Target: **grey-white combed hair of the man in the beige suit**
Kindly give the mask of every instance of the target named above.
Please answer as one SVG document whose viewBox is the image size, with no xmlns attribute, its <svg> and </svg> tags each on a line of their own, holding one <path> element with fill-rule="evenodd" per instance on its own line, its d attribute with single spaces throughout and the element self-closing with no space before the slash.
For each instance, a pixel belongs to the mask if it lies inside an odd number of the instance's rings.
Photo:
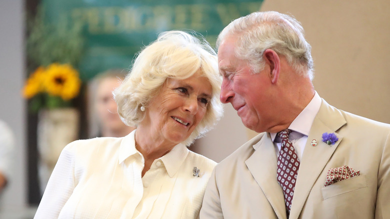
<svg viewBox="0 0 390 219">
<path fill-rule="evenodd" d="M 304 30 L 294 17 L 276 11 L 253 12 L 230 22 L 218 35 L 216 46 L 226 38 L 235 37 L 235 55 L 247 60 L 254 73 L 264 68 L 265 49 L 286 57 L 300 74 L 313 79 L 311 46 Z"/>
</svg>

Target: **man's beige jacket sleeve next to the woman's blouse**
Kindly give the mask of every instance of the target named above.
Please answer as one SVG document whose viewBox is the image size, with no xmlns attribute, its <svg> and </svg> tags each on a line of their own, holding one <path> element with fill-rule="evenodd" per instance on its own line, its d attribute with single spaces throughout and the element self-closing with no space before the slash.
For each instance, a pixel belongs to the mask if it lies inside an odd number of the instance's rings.
<svg viewBox="0 0 390 219">
<path fill-rule="evenodd" d="M 202 207 L 200 208 L 200 219 L 223 218 L 220 196 L 215 177 L 216 167 L 212 170 L 210 179 L 208 180 L 206 186 Z"/>
</svg>

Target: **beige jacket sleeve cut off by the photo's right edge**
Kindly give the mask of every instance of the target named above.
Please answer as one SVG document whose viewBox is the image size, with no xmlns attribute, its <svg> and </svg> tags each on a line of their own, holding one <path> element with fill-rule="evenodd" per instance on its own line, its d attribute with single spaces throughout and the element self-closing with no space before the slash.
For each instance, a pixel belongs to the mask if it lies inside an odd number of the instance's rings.
<svg viewBox="0 0 390 219">
<path fill-rule="evenodd" d="M 375 219 L 388 218 L 388 215 L 390 215 L 388 197 L 390 197 L 390 132 L 388 132 L 384 143 L 378 171 Z"/>
</svg>

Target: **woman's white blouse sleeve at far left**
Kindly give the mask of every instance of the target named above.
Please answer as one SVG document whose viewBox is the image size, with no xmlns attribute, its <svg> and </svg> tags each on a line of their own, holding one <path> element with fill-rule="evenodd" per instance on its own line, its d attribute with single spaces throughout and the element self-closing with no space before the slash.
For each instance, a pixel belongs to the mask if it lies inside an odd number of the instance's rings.
<svg viewBox="0 0 390 219">
<path fill-rule="evenodd" d="M 75 186 L 75 148 L 76 145 L 72 142 L 61 151 L 47 182 L 34 219 L 58 218 L 59 212 L 72 194 Z"/>
</svg>

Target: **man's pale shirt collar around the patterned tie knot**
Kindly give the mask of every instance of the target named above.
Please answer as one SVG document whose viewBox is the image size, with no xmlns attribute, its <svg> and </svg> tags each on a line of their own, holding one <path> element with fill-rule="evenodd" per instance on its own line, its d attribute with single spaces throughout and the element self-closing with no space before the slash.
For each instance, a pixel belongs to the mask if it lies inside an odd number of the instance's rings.
<svg viewBox="0 0 390 219">
<path fill-rule="evenodd" d="M 317 114 L 319 107 L 321 106 L 321 97 L 319 97 L 317 91 L 314 92 L 313 98 L 304 107 L 304 109 L 296 116 L 296 118 L 288 126 L 288 129 L 297 131 L 303 135 L 308 135 L 311 124 L 314 117 Z M 275 139 L 277 133 L 270 133 L 272 141 Z"/>
</svg>

